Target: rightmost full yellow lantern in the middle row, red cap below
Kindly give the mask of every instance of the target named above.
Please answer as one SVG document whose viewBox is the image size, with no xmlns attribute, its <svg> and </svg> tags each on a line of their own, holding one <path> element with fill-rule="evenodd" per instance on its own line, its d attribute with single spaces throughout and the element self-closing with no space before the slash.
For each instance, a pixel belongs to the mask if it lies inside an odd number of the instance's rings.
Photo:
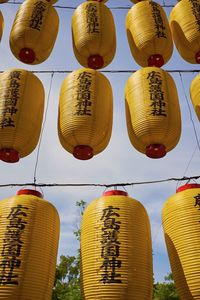
<svg viewBox="0 0 200 300">
<path fill-rule="evenodd" d="M 126 121 L 132 145 L 151 158 L 161 158 L 178 143 L 181 116 L 175 83 L 164 70 L 135 72 L 125 88 Z"/>
</svg>

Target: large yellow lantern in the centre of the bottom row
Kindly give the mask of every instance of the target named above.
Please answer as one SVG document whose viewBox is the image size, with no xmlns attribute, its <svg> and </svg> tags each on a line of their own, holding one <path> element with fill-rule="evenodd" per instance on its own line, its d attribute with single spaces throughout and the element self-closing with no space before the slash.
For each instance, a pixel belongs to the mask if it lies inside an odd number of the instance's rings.
<svg viewBox="0 0 200 300">
<path fill-rule="evenodd" d="M 81 292 L 86 300 L 150 300 L 152 246 L 147 212 L 119 190 L 86 208 L 81 224 Z"/>
</svg>

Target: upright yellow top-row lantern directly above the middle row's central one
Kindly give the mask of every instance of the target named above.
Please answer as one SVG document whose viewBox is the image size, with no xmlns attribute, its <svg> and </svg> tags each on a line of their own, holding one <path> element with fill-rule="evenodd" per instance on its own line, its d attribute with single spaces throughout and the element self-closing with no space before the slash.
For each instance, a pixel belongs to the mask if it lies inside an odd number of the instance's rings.
<svg viewBox="0 0 200 300">
<path fill-rule="evenodd" d="M 78 62 L 92 69 L 107 66 L 116 50 L 115 24 L 103 3 L 86 1 L 72 16 L 72 39 Z"/>
</svg>

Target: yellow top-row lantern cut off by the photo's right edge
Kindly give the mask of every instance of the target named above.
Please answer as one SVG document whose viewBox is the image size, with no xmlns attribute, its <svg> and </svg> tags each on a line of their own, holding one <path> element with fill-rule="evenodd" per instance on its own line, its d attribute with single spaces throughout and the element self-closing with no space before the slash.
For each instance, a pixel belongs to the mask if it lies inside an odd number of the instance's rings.
<svg viewBox="0 0 200 300">
<path fill-rule="evenodd" d="M 179 54 L 189 63 L 200 63 L 199 1 L 181 0 L 172 9 L 170 27 Z"/>
</svg>

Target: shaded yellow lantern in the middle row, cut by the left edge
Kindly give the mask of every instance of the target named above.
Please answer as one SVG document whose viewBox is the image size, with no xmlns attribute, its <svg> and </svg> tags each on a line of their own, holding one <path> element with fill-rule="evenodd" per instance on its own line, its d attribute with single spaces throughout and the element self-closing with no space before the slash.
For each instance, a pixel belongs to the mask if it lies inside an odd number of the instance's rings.
<svg viewBox="0 0 200 300">
<path fill-rule="evenodd" d="M 9 69 L 0 75 L 0 159 L 17 162 L 37 146 L 44 88 L 31 72 Z"/>
</svg>

